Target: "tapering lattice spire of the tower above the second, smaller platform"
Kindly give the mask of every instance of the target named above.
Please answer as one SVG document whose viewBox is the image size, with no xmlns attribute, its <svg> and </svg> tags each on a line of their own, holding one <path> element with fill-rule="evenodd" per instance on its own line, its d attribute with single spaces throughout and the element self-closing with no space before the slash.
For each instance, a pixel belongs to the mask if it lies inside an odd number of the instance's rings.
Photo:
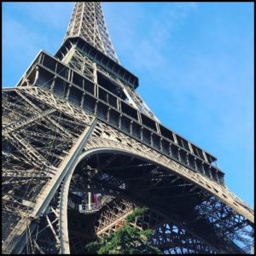
<svg viewBox="0 0 256 256">
<path fill-rule="evenodd" d="M 64 41 L 68 37 L 80 37 L 119 63 L 100 2 L 76 2 Z"/>
</svg>

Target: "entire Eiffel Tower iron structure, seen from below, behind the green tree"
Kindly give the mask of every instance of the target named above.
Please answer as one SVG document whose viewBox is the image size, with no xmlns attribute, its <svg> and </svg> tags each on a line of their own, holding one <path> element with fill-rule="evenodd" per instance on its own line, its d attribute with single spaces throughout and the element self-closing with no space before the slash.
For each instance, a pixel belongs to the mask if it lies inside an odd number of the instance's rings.
<svg viewBox="0 0 256 256">
<path fill-rule="evenodd" d="M 78 2 L 55 55 L 2 90 L 2 251 L 86 253 L 132 225 L 163 253 L 250 253 L 253 210 L 206 150 L 169 130 L 122 67 L 99 2 Z"/>
</svg>

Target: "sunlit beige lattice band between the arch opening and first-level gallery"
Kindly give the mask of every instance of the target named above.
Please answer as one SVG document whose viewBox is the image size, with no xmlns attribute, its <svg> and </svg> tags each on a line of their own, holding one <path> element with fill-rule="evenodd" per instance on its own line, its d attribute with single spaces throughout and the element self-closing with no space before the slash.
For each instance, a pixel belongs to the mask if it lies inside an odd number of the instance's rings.
<svg viewBox="0 0 256 256">
<path fill-rule="evenodd" d="M 169 168 L 173 172 L 176 172 L 180 177 L 189 180 L 189 182 L 192 181 L 193 183 L 196 183 L 196 185 L 210 192 L 229 207 L 240 212 L 241 215 L 253 222 L 253 210 L 247 207 L 247 205 L 245 205 L 236 195 L 231 193 L 227 187 L 221 186 L 211 179 L 202 176 L 200 173 L 195 173 L 189 170 L 189 168 L 177 164 L 176 161 L 170 160 L 166 155 L 160 154 L 142 143 L 138 143 L 137 140 L 132 137 L 128 137 L 123 132 L 100 121 L 97 123 L 92 137 L 86 144 L 87 150 L 96 148 L 113 148 L 121 150 L 127 152 L 127 154 L 134 154 L 143 159 L 147 159 L 149 162 L 154 161 L 155 163 L 158 163 L 159 166 Z M 168 180 L 166 180 L 166 183 L 168 183 Z"/>
</svg>

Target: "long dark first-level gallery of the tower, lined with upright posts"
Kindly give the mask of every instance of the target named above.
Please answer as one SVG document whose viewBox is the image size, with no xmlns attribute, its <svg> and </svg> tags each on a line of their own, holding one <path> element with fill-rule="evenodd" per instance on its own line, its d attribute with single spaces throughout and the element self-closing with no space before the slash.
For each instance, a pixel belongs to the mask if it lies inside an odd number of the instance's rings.
<svg viewBox="0 0 256 256">
<path fill-rule="evenodd" d="M 213 157 L 210 154 L 174 132 L 168 131 L 163 125 L 149 119 L 100 85 L 79 77 L 79 74 L 69 67 L 64 67 L 61 62 L 49 55 L 44 53 L 38 55 L 35 63 L 40 64 L 38 67 L 34 67 L 38 73 L 36 75 L 38 79 L 34 83 L 47 87 L 53 93 L 65 97 L 70 104 L 79 105 L 84 110 L 96 115 L 97 118 L 107 121 L 109 125 L 113 125 L 126 135 L 137 139 L 138 143 L 154 148 L 160 154 L 165 154 L 183 166 L 212 178 L 217 183 L 224 183 L 224 173 L 212 166 Z M 49 65 L 49 63 L 51 64 Z M 61 73 L 63 69 L 65 72 Z M 58 72 L 58 70 L 60 71 Z M 33 73 L 32 70 L 29 73 Z M 66 78 L 64 79 L 63 76 Z M 78 79 L 81 79 L 79 82 L 81 84 L 76 82 Z M 104 97 L 100 96 L 99 90 L 104 91 Z M 110 101 L 110 99 L 112 100 Z M 150 128 L 148 125 L 153 126 Z M 165 136 L 161 133 L 164 133 Z"/>
</svg>

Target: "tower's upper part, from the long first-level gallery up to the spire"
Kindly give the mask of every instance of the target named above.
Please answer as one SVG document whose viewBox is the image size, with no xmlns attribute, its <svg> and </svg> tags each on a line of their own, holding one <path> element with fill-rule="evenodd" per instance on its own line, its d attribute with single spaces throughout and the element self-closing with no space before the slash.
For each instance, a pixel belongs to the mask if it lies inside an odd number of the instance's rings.
<svg viewBox="0 0 256 256">
<path fill-rule="evenodd" d="M 56 54 L 38 54 L 17 86 L 40 86 L 179 164 L 224 184 L 216 158 L 169 130 L 137 93 L 137 76 L 114 53 L 100 3 L 76 3 Z"/>
</svg>

